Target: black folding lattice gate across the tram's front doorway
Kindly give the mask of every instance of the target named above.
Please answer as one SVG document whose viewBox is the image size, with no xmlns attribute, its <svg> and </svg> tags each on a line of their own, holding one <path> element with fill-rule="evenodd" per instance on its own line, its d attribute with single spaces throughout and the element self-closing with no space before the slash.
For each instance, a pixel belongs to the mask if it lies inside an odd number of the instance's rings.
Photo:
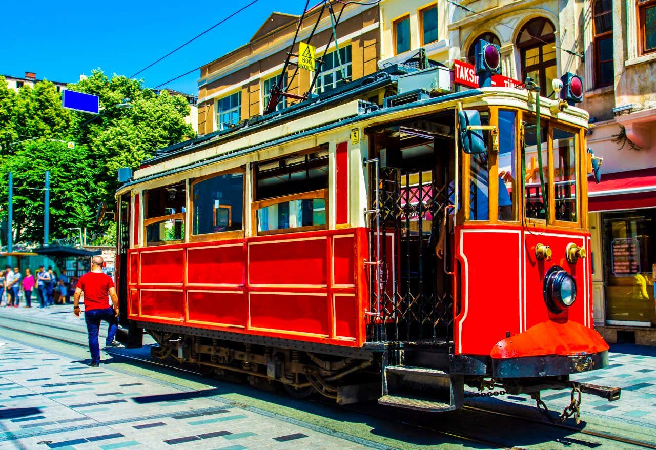
<svg viewBox="0 0 656 450">
<path fill-rule="evenodd" d="M 367 340 L 448 345 L 451 278 L 435 249 L 453 186 L 435 166 L 380 169 L 371 162 Z"/>
</svg>

